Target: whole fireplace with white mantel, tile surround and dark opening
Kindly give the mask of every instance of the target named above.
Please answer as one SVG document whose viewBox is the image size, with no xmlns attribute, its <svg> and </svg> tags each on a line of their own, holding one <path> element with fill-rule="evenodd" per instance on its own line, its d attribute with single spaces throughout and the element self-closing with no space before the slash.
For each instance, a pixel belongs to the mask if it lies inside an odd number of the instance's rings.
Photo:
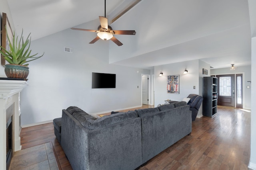
<svg viewBox="0 0 256 170">
<path fill-rule="evenodd" d="M 20 92 L 25 80 L 0 79 L 0 170 L 7 170 L 20 145 Z"/>
</svg>

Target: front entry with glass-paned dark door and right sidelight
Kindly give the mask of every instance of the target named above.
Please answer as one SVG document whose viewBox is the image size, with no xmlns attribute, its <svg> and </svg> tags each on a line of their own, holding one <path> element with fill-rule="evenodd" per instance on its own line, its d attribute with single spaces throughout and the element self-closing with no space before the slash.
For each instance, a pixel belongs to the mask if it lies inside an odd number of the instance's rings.
<svg viewBox="0 0 256 170">
<path fill-rule="evenodd" d="M 242 74 L 216 75 L 218 105 L 242 108 Z"/>
</svg>

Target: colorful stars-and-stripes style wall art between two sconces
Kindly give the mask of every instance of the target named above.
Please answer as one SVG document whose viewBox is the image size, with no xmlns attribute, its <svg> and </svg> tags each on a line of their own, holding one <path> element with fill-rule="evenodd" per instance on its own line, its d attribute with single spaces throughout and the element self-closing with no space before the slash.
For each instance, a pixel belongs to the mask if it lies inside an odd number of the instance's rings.
<svg viewBox="0 0 256 170">
<path fill-rule="evenodd" d="M 179 75 L 167 76 L 167 93 L 179 94 Z"/>
</svg>

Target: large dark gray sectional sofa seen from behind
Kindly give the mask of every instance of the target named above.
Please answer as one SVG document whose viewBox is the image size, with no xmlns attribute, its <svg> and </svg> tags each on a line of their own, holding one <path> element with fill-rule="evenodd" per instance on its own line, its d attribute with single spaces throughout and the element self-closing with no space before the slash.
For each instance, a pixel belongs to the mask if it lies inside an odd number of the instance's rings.
<svg viewBox="0 0 256 170">
<path fill-rule="evenodd" d="M 70 106 L 60 126 L 54 132 L 74 170 L 134 170 L 189 135 L 192 120 L 186 102 L 98 119 Z"/>
</svg>

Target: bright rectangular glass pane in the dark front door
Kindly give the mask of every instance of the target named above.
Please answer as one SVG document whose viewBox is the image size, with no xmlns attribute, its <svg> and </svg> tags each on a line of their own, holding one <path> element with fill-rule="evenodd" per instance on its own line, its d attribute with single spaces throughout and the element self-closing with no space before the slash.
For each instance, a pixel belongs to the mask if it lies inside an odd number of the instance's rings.
<svg viewBox="0 0 256 170">
<path fill-rule="evenodd" d="M 220 77 L 220 96 L 231 96 L 231 77 Z"/>
</svg>

